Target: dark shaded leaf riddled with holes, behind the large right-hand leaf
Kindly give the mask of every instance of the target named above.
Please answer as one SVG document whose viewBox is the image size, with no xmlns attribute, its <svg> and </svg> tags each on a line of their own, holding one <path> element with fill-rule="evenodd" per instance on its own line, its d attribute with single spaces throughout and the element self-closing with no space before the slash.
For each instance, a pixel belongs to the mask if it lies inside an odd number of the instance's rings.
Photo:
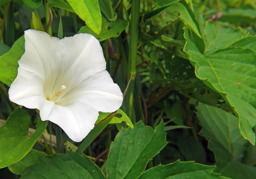
<svg viewBox="0 0 256 179">
<path fill-rule="evenodd" d="M 160 50 L 159 54 L 161 53 L 158 64 L 151 65 L 149 75 L 151 82 L 169 86 L 191 99 L 232 111 L 219 93 L 207 87 L 196 77 L 195 69 L 188 59 L 167 50 Z"/>
</svg>

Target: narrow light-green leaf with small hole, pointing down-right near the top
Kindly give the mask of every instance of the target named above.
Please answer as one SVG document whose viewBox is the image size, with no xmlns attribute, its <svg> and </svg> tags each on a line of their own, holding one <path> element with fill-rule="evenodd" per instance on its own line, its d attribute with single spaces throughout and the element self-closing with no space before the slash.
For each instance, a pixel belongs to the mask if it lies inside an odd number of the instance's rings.
<svg viewBox="0 0 256 179">
<path fill-rule="evenodd" d="M 182 3 L 175 3 L 168 7 L 166 11 L 176 15 L 183 23 L 187 25 L 187 27 L 193 30 L 200 38 L 202 37 L 199 24 L 189 6 L 184 6 Z"/>
</svg>

